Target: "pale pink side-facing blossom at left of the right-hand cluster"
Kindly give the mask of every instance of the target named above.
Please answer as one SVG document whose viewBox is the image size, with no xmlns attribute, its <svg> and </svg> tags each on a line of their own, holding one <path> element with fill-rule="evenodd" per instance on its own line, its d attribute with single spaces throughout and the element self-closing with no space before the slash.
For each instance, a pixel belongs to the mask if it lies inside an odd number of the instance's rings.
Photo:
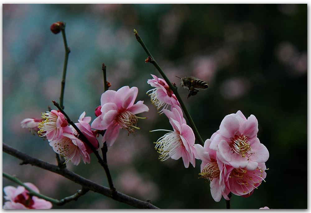
<svg viewBox="0 0 311 213">
<path fill-rule="evenodd" d="M 230 200 L 228 197 L 230 193 L 228 178 L 234 168 L 221 162 L 216 151 L 209 148 L 210 144 L 210 139 L 205 141 L 204 147 L 200 144 L 194 144 L 197 153 L 196 158 L 202 161 L 199 175 L 210 181 L 211 195 L 216 202 L 220 201 L 221 196 Z"/>
</svg>

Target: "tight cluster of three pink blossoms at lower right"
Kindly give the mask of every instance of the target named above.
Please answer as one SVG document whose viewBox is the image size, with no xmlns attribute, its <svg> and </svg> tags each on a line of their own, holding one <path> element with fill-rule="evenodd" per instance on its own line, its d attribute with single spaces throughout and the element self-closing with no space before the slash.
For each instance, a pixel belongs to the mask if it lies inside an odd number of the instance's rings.
<svg viewBox="0 0 311 213">
<path fill-rule="evenodd" d="M 258 121 L 238 111 L 225 116 L 219 130 L 204 143 L 195 144 L 196 158 L 202 160 L 201 177 L 210 181 L 216 202 L 228 194 L 248 197 L 266 178 L 267 148 L 257 138 Z"/>
</svg>

